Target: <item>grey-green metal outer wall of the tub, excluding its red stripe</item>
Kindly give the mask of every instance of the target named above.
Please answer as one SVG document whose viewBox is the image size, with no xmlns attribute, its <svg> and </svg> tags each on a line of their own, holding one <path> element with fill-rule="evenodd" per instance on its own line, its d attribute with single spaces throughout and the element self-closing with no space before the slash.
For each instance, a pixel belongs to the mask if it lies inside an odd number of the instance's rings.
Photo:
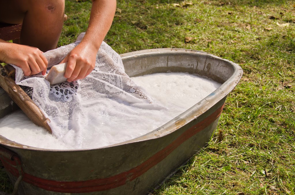
<svg viewBox="0 0 295 195">
<path fill-rule="evenodd" d="M 89 151 L 44 152 L 22 150 L 19 148 L 10 149 L 22 157 L 22 166 L 25 173 L 53 181 L 88 181 L 97 178 L 108 178 L 122 172 L 127 172 L 145 163 L 152 158 L 155 153 L 165 150 L 169 145 L 172 144 L 172 147 L 175 145 L 176 149 L 163 160 L 157 163 L 157 159 L 154 159 L 150 162 L 155 163 L 154 166 L 137 178 L 126 181 L 124 185 L 106 191 L 85 193 L 146 194 L 148 191 L 152 191 L 165 177 L 184 162 L 188 161 L 191 156 L 199 152 L 200 149 L 207 144 L 212 133 L 217 128 L 219 117 L 208 124 L 205 129 L 202 129 L 200 132 L 183 141 L 183 143 L 178 142 L 173 144 L 173 142 L 189 128 L 200 123 L 218 108 L 222 107 L 223 103 L 224 101 L 221 101 L 196 120 L 157 139 L 149 139 L 146 141 Z M 163 155 L 165 155 L 165 153 Z M 158 156 L 158 158 L 161 157 L 162 156 Z M 141 170 L 138 171 L 140 172 Z M 10 175 L 10 177 L 13 178 L 13 181 L 17 179 L 17 177 L 12 175 Z M 132 178 L 132 173 L 129 177 L 127 176 L 127 179 L 128 178 Z M 116 181 L 111 181 L 110 184 L 116 184 Z M 21 188 L 25 190 L 20 189 L 19 194 L 63 194 L 46 191 L 26 182 L 21 183 Z M 24 193 L 24 191 L 26 193 Z"/>
</svg>

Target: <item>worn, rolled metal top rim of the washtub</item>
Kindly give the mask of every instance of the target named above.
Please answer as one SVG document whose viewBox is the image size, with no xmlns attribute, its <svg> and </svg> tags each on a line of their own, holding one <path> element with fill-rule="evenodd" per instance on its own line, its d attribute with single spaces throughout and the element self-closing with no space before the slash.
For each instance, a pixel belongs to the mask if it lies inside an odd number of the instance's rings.
<svg viewBox="0 0 295 195">
<path fill-rule="evenodd" d="M 181 48 L 161 48 L 161 49 L 145 49 L 145 50 L 139 50 L 135 52 L 128 52 L 124 54 L 120 54 L 122 60 L 128 59 L 128 58 L 137 58 L 137 57 L 148 57 L 151 55 L 159 55 L 159 54 L 200 54 L 205 55 L 208 57 L 213 57 L 218 60 L 225 61 L 229 63 L 233 68 L 232 75 L 220 86 L 218 87 L 214 92 L 210 93 L 207 97 L 193 105 L 191 108 L 187 109 L 180 115 L 176 116 L 175 118 L 171 119 L 167 123 L 163 124 L 162 126 L 150 131 L 149 133 L 146 133 L 144 135 L 141 135 L 137 138 L 133 138 L 131 140 L 127 140 L 124 142 L 112 144 L 109 146 L 103 146 L 99 148 L 89 148 L 89 149 L 73 149 L 73 150 L 63 150 L 63 149 L 45 149 L 45 148 L 37 148 L 33 146 L 27 146 L 23 145 L 14 141 L 11 141 L 4 136 L 0 135 L 0 145 L 9 146 L 12 148 L 18 148 L 18 149 L 25 149 L 25 150 L 31 150 L 31 151 L 48 151 L 48 152 L 75 152 L 75 151 L 90 151 L 90 150 L 97 150 L 101 148 L 111 148 L 115 146 L 121 146 L 128 143 L 135 143 L 140 141 L 146 141 L 150 139 L 156 139 L 159 137 L 163 137 L 165 135 L 168 135 L 177 129 L 181 128 L 182 126 L 186 125 L 187 123 L 191 122 L 192 120 L 198 118 L 200 115 L 205 113 L 209 108 L 214 106 L 216 103 L 218 103 L 220 100 L 222 100 L 224 97 L 226 97 L 238 84 L 242 77 L 243 70 L 242 68 L 230 61 L 226 60 L 220 57 L 217 57 L 213 54 L 209 54 L 207 52 L 193 50 L 193 49 L 181 49 Z M 197 114 L 194 114 L 197 112 Z M 176 123 L 179 121 L 185 120 L 185 123 L 181 123 L 180 125 L 177 125 Z M 165 130 L 165 131 L 163 131 Z"/>
</svg>

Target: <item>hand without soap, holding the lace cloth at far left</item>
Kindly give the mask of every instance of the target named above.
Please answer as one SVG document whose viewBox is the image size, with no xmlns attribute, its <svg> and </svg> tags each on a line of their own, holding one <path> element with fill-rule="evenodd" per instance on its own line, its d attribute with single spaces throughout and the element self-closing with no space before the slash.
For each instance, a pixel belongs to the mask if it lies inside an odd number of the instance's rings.
<svg viewBox="0 0 295 195">
<path fill-rule="evenodd" d="M 0 61 L 20 67 L 25 76 L 39 72 L 42 72 L 42 75 L 46 74 L 48 62 L 42 53 L 36 47 L 0 42 Z"/>
</svg>

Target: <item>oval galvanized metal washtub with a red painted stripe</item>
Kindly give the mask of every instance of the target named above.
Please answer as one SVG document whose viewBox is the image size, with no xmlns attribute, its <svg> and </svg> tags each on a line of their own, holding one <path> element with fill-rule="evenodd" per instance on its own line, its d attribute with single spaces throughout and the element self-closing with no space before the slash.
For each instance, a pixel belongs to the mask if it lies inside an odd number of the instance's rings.
<svg viewBox="0 0 295 195">
<path fill-rule="evenodd" d="M 151 49 L 121 57 L 131 77 L 189 72 L 222 85 L 163 126 L 112 146 L 48 150 L 0 136 L 0 158 L 18 194 L 147 194 L 206 146 L 217 128 L 228 93 L 242 76 L 237 64 L 196 50 Z M 1 105 L 3 116 L 12 110 L 11 100 L 5 94 L 0 98 L 7 104 L 6 108 Z"/>
</svg>

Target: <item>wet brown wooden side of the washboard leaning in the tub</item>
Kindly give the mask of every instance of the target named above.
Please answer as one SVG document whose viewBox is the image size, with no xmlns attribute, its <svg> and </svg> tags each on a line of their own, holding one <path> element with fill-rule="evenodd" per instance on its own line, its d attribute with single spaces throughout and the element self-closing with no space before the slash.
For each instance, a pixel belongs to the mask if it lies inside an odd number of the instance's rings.
<svg viewBox="0 0 295 195">
<path fill-rule="evenodd" d="M 42 113 L 40 108 L 33 102 L 33 100 L 22 90 L 19 85 L 15 84 L 15 81 L 6 75 L 1 68 L 0 85 L 6 91 L 6 93 L 12 98 L 12 100 L 22 109 L 22 111 L 32 120 L 36 125 L 43 127 L 49 133 L 52 130 L 47 122 L 50 122 L 48 118 Z"/>
</svg>

